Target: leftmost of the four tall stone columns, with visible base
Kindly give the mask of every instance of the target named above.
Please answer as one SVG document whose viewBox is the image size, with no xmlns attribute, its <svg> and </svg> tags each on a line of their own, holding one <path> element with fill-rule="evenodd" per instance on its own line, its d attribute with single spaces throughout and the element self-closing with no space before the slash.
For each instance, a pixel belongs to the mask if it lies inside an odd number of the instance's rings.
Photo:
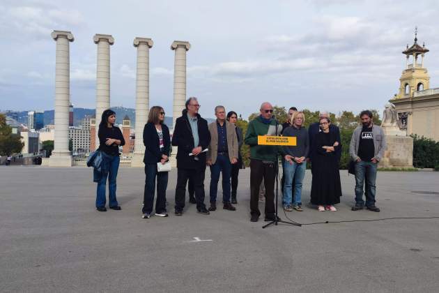
<svg viewBox="0 0 439 293">
<path fill-rule="evenodd" d="M 53 31 L 52 38 L 56 40 L 55 133 L 54 150 L 47 165 L 50 167 L 71 167 L 72 155 L 68 149 L 70 106 L 69 42 L 72 42 L 74 38 L 70 31 Z"/>
</svg>

